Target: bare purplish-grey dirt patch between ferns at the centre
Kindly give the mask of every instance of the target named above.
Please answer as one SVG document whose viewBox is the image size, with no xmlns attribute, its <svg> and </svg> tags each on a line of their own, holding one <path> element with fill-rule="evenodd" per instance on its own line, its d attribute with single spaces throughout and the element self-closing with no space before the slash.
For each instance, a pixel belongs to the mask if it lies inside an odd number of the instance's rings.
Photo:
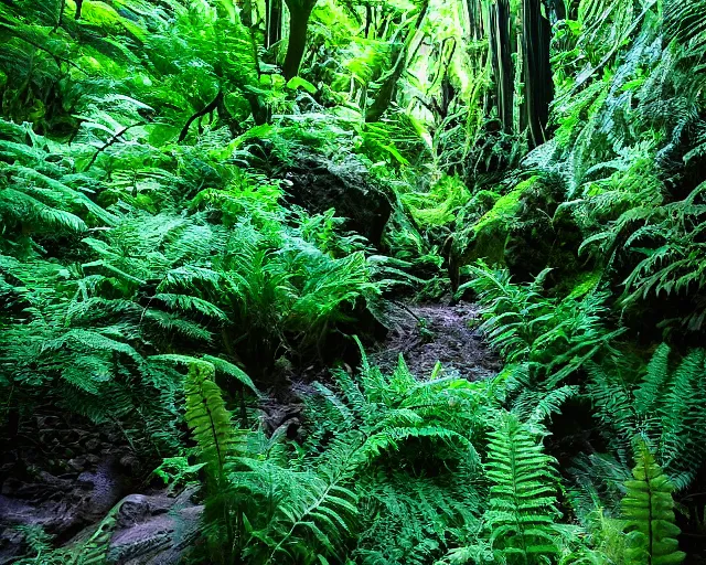
<svg viewBox="0 0 706 565">
<path fill-rule="evenodd" d="M 461 302 L 398 305 L 386 317 L 393 322 L 387 340 L 371 355 L 383 367 L 397 364 L 402 353 L 409 370 L 419 379 L 431 374 L 439 361 L 446 375 L 471 381 L 500 371 L 500 360 L 490 351 L 475 329 L 479 307 Z"/>
</svg>

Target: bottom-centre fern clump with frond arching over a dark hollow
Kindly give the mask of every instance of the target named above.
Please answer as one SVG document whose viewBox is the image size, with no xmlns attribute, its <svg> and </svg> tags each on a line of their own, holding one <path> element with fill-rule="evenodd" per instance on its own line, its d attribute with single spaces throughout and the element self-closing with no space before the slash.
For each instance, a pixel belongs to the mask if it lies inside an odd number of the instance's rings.
<svg viewBox="0 0 706 565">
<path fill-rule="evenodd" d="M 360 380 L 334 373 L 307 401 L 311 449 L 357 438 L 364 525 L 353 552 L 365 564 L 428 563 L 467 529 L 480 505 L 475 483 L 486 387 L 459 379 L 415 379 L 404 361 L 384 375 L 364 360 Z M 404 465 L 395 461 L 405 461 Z"/>
</svg>

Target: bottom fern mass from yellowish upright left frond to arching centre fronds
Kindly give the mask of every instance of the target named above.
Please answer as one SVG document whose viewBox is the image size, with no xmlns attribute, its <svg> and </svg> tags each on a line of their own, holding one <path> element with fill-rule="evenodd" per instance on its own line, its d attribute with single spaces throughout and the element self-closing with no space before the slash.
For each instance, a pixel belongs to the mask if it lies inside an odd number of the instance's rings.
<svg viewBox="0 0 706 565">
<path fill-rule="evenodd" d="M 481 433 L 486 386 L 417 381 L 403 362 L 389 376 L 367 364 L 360 381 L 334 376 L 340 392 L 317 384 L 304 398 L 309 433 L 295 448 L 281 434 L 235 429 L 213 367 L 191 364 L 186 422 L 207 471 L 212 558 L 313 563 L 356 535 L 362 563 L 426 563 L 478 523 L 470 439 Z M 409 470 L 391 465 L 391 454 Z"/>
</svg>

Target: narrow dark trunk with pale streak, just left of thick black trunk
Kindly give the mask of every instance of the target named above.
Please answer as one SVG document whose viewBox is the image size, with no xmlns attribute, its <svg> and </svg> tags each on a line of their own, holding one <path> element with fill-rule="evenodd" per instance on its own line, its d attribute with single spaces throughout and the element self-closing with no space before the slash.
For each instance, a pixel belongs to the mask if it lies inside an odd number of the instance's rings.
<svg viewBox="0 0 706 565">
<path fill-rule="evenodd" d="M 495 75 L 498 114 L 507 134 L 513 127 L 514 71 L 510 29 L 510 2 L 498 0 L 490 9 L 490 46 Z"/>
</svg>

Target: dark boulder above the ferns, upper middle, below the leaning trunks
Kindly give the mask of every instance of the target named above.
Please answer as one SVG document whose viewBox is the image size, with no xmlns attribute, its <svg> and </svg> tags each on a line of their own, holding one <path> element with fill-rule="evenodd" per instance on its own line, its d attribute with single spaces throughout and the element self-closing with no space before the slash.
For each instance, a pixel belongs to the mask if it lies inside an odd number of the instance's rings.
<svg viewBox="0 0 706 565">
<path fill-rule="evenodd" d="M 287 167 L 291 183 L 288 200 L 312 213 L 335 209 L 347 218 L 345 230 L 365 236 L 379 246 L 392 205 L 371 180 L 367 168 L 354 156 L 343 163 L 307 154 Z"/>
</svg>

